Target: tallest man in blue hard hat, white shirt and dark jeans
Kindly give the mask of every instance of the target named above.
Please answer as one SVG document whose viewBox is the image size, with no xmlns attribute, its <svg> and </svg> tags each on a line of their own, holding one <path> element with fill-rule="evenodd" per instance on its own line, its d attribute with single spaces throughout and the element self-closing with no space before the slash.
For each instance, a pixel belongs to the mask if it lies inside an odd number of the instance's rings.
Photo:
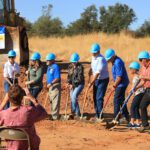
<svg viewBox="0 0 150 150">
<path fill-rule="evenodd" d="M 100 54 L 100 46 L 94 43 L 91 46 L 90 52 L 92 53 L 91 69 L 89 76 L 92 80 L 89 83 L 89 89 L 93 86 L 93 99 L 96 116 L 94 121 L 101 121 L 103 117 L 100 113 L 103 109 L 104 96 L 109 83 L 108 64 L 104 56 Z"/>
</svg>

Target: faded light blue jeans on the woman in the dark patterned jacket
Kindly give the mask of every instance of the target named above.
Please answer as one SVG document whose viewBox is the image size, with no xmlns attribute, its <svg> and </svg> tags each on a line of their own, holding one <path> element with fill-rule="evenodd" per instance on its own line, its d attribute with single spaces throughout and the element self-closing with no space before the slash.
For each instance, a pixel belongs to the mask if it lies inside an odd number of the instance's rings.
<svg viewBox="0 0 150 150">
<path fill-rule="evenodd" d="M 84 85 L 80 84 L 77 87 L 73 88 L 70 91 L 70 97 L 71 97 L 71 112 L 76 115 L 80 115 L 80 108 L 78 104 L 78 96 L 83 90 Z"/>
</svg>

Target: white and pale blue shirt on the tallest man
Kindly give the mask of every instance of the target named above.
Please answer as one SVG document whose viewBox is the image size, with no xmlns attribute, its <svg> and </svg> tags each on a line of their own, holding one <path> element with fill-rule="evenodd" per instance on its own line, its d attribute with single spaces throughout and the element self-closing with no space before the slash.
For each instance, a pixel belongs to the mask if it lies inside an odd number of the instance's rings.
<svg viewBox="0 0 150 150">
<path fill-rule="evenodd" d="M 93 75 L 100 73 L 97 79 L 102 80 L 109 77 L 107 61 L 101 54 L 98 57 L 92 57 L 91 68 Z"/>
</svg>

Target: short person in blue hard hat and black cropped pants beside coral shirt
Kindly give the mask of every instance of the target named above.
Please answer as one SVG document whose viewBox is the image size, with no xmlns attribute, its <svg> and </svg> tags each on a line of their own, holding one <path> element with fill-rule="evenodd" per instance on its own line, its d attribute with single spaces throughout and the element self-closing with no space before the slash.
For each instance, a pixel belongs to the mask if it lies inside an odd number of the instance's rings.
<svg viewBox="0 0 150 150">
<path fill-rule="evenodd" d="M 139 81 L 139 70 L 140 70 L 140 64 L 138 62 L 132 62 L 129 65 L 130 73 L 133 75 L 132 80 L 132 88 L 135 86 L 135 84 Z M 139 128 L 141 125 L 141 117 L 140 117 L 140 103 L 143 98 L 145 89 L 144 86 L 138 88 L 136 92 L 134 93 L 134 98 L 130 106 L 130 115 L 131 120 L 130 123 L 127 125 L 128 128 Z"/>
</svg>

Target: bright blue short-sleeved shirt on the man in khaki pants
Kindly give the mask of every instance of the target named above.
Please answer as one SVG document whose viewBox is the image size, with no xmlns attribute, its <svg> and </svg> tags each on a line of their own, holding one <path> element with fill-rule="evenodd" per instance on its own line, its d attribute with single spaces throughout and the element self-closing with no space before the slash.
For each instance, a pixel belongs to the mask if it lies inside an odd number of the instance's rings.
<svg viewBox="0 0 150 150">
<path fill-rule="evenodd" d="M 46 83 L 50 84 L 55 79 L 60 79 L 60 69 L 57 64 L 52 64 L 47 68 Z"/>
</svg>

